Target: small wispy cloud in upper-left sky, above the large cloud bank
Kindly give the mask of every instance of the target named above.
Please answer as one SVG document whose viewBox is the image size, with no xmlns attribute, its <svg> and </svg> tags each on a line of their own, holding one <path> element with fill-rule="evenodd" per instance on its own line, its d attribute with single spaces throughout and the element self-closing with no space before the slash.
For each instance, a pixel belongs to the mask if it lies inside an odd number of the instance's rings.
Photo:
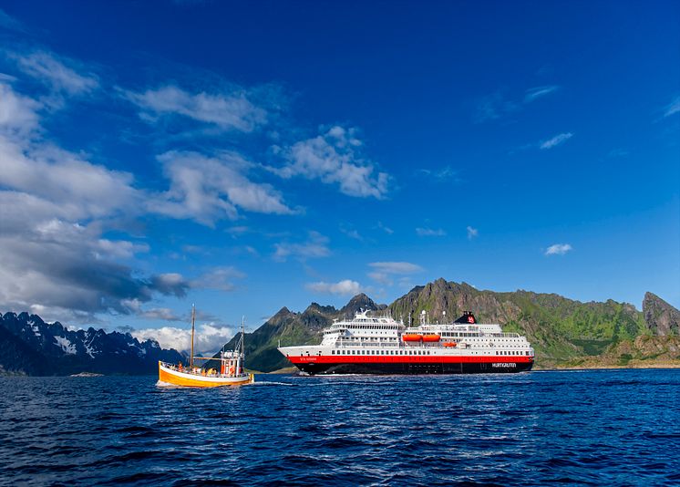
<svg viewBox="0 0 680 487">
<path fill-rule="evenodd" d="M 46 51 L 35 51 L 27 55 L 10 54 L 16 65 L 28 76 L 39 79 L 54 91 L 78 95 L 98 88 L 98 78 L 88 73 L 78 74 L 72 68 L 77 63 L 65 57 L 57 57 Z M 70 65 L 71 67 L 68 67 Z M 77 67 L 82 70 L 82 67 Z"/>
</svg>

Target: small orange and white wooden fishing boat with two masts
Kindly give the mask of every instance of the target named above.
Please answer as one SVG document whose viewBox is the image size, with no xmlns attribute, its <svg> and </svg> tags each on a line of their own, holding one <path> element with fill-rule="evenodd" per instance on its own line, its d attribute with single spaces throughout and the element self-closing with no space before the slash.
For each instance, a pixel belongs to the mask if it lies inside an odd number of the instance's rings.
<svg viewBox="0 0 680 487">
<path fill-rule="evenodd" d="M 191 356 L 189 367 L 180 364 L 169 364 L 159 360 L 159 382 L 163 385 L 185 386 L 193 388 L 217 388 L 221 386 L 241 386 L 255 381 L 253 374 L 243 370 L 245 353 L 243 338 L 245 337 L 244 320 L 241 322 L 241 338 L 231 351 L 223 350 L 220 357 L 194 357 L 193 338 L 196 329 L 196 307 L 191 306 Z M 194 360 L 219 360 L 217 368 L 195 367 Z"/>
</svg>

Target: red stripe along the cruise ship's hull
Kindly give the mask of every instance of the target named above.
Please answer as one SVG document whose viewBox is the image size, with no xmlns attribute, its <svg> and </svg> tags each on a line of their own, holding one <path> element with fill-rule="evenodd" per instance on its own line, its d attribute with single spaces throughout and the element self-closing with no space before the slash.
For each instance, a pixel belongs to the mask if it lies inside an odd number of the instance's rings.
<svg viewBox="0 0 680 487">
<path fill-rule="evenodd" d="M 321 356 L 321 355 L 311 355 L 309 357 L 287 357 L 288 360 L 294 364 L 385 364 L 385 363 L 397 363 L 397 364 L 476 364 L 476 363 L 516 363 L 516 364 L 527 364 L 533 362 L 533 357 L 526 356 L 503 356 L 503 357 L 493 357 L 493 356 L 467 356 L 467 357 L 455 357 L 455 356 L 432 356 L 432 355 L 417 355 L 417 356 L 407 356 L 407 355 L 376 355 L 376 356 L 363 356 L 363 355 L 335 355 L 335 356 Z"/>
</svg>

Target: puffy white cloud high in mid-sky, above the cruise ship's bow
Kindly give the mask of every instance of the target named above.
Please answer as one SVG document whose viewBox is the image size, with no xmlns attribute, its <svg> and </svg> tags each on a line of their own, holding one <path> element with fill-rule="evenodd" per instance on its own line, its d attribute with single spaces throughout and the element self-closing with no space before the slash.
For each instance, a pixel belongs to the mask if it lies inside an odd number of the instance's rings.
<svg viewBox="0 0 680 487">
<path fill-rule="evenodd" d="M 314 139 L 302 140 L 282 150 L 287 164 L 268 168 L 282 178 L 302 176 L 327 184 L 338 184 L 340 192 L 360 198 L 386 197 L 390 177 L 366 161 L 355 129 L 332 127 Z"/>
</svg>

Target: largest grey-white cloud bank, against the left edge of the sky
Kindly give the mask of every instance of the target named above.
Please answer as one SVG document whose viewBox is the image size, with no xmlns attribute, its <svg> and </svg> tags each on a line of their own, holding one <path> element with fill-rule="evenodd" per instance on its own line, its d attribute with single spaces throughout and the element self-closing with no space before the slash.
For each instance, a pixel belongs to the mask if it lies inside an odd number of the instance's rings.
<svg viewBox="0 0 680 487">
<path fill-rule="evenodd" d="M 125 261 L 147 244 L 102 236 L 99 219 L 134 212 L 131 175 L 42 140 L 39 103 L 0 85 L 0 303 L 46 318 L 128 314 L 129 301 L 183 295 L 169 275 L 139 275 Z"/>
</svg>

